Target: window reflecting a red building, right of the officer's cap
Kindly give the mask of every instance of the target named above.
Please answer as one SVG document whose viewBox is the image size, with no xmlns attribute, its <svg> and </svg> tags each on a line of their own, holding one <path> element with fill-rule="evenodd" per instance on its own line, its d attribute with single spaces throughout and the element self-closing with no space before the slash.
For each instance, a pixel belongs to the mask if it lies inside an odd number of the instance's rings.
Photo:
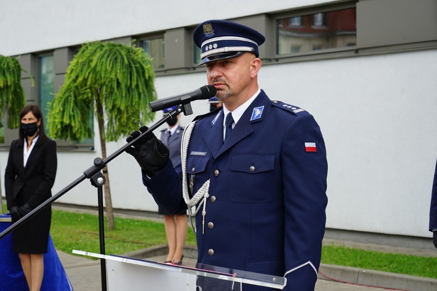
<svg viewBox="0 0 437 291">
<path fill-rule="evenodd" d="M 276 54 L 279 55 L 355 45 L 355 8 L 276 20 Z"/>
</svg>

